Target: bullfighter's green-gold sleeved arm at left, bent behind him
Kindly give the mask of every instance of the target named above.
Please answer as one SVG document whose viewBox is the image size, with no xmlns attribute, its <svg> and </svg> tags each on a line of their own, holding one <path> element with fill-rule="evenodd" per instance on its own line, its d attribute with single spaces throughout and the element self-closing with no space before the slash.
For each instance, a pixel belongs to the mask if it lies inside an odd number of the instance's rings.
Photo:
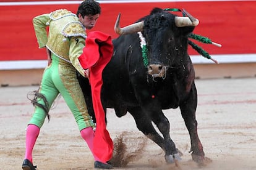
<svg viewBox="0 0 256 170">
<path fill-rule="evenodd" d="M 39 48 L 46 46 L 48 40 L 46 26 L 48 26 L 47 22 L 49 19 L 49 14 L 38 15 L 33 18 L 33 26 Z"/>
</svg>

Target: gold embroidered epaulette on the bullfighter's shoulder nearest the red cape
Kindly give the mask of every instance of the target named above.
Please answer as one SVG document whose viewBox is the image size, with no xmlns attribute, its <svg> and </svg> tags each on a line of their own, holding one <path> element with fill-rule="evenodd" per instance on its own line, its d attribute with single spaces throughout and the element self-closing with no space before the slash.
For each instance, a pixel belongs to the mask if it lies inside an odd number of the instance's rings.
<svg viewBox="0 0 256 170">
<path fill-rule="evenodd" d="M 66 37 L 82 36 L 83 38 L 86 38 L 85 27 L 78 21 L 67 23 L 62 30 L 62 34 Z"/>
</svg>

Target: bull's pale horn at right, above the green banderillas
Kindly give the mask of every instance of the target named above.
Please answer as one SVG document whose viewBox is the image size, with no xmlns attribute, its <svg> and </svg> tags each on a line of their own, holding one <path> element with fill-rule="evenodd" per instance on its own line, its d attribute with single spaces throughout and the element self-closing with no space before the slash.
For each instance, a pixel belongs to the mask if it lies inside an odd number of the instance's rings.
<svg viewBox="0 0 256 170">
<path fill-rule="evenodd" d="M 184 14 L 187 15 L 187 17 L 175 17 L 176 26 L 197 26 L 199 24 L 198 19 L 190 15 L 189 12 L 187 12 L 187 10 L 182 9 L 182 11 L 184 12 Z"/>
</svg>

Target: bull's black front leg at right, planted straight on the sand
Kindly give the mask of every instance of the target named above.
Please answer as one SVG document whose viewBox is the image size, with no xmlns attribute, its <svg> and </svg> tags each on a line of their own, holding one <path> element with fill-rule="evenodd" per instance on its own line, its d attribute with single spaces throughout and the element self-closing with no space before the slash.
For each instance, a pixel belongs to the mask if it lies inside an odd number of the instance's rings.
<svg viewBox="0 0 256 170">
<path fill-rule="evenodd" d="M 190 91 L 188 99 L 180 105 L 181 115 L 185 121 L 187 130 L 189 131 L 192 159 L 201 164 L 205 160 L 203 145 L 197 134 L 197 120 L 195 119 L 195 110 L 197 108 L 197 94 L 195 86 Z"/>
</svg>

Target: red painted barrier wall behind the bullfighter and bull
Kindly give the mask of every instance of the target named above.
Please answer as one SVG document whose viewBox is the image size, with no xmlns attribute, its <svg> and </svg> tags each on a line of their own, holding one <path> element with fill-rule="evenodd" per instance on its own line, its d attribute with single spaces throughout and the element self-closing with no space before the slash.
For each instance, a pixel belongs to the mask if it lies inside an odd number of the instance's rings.
<svg viewBox="0 0 256 170">
<path fill-rule="evenodd" d="M 256 1 L 192 1 L 192 2 L 137 2 L 101 3 L 102 13 L 92 31 L 100 30 L 117 35 L 113 27 L 121 12 L 121 26 L 149 14 L 153 7 L 186 9 L 200 21 L 194 33 L 207 36 L 223 45 L 218 48 L 198 44 L 210 54 L 256 54 Z M 76 12 L 79 4 L 1 6 L 0 2 L 0 61 L 45 60 L 45 49 L 38 49 L 32 18 L 56 9 Z M 176 13 L 181 15 L 180 13 Z M 189 54 L 197 54 L 189 49 Z"/>
</svg>

